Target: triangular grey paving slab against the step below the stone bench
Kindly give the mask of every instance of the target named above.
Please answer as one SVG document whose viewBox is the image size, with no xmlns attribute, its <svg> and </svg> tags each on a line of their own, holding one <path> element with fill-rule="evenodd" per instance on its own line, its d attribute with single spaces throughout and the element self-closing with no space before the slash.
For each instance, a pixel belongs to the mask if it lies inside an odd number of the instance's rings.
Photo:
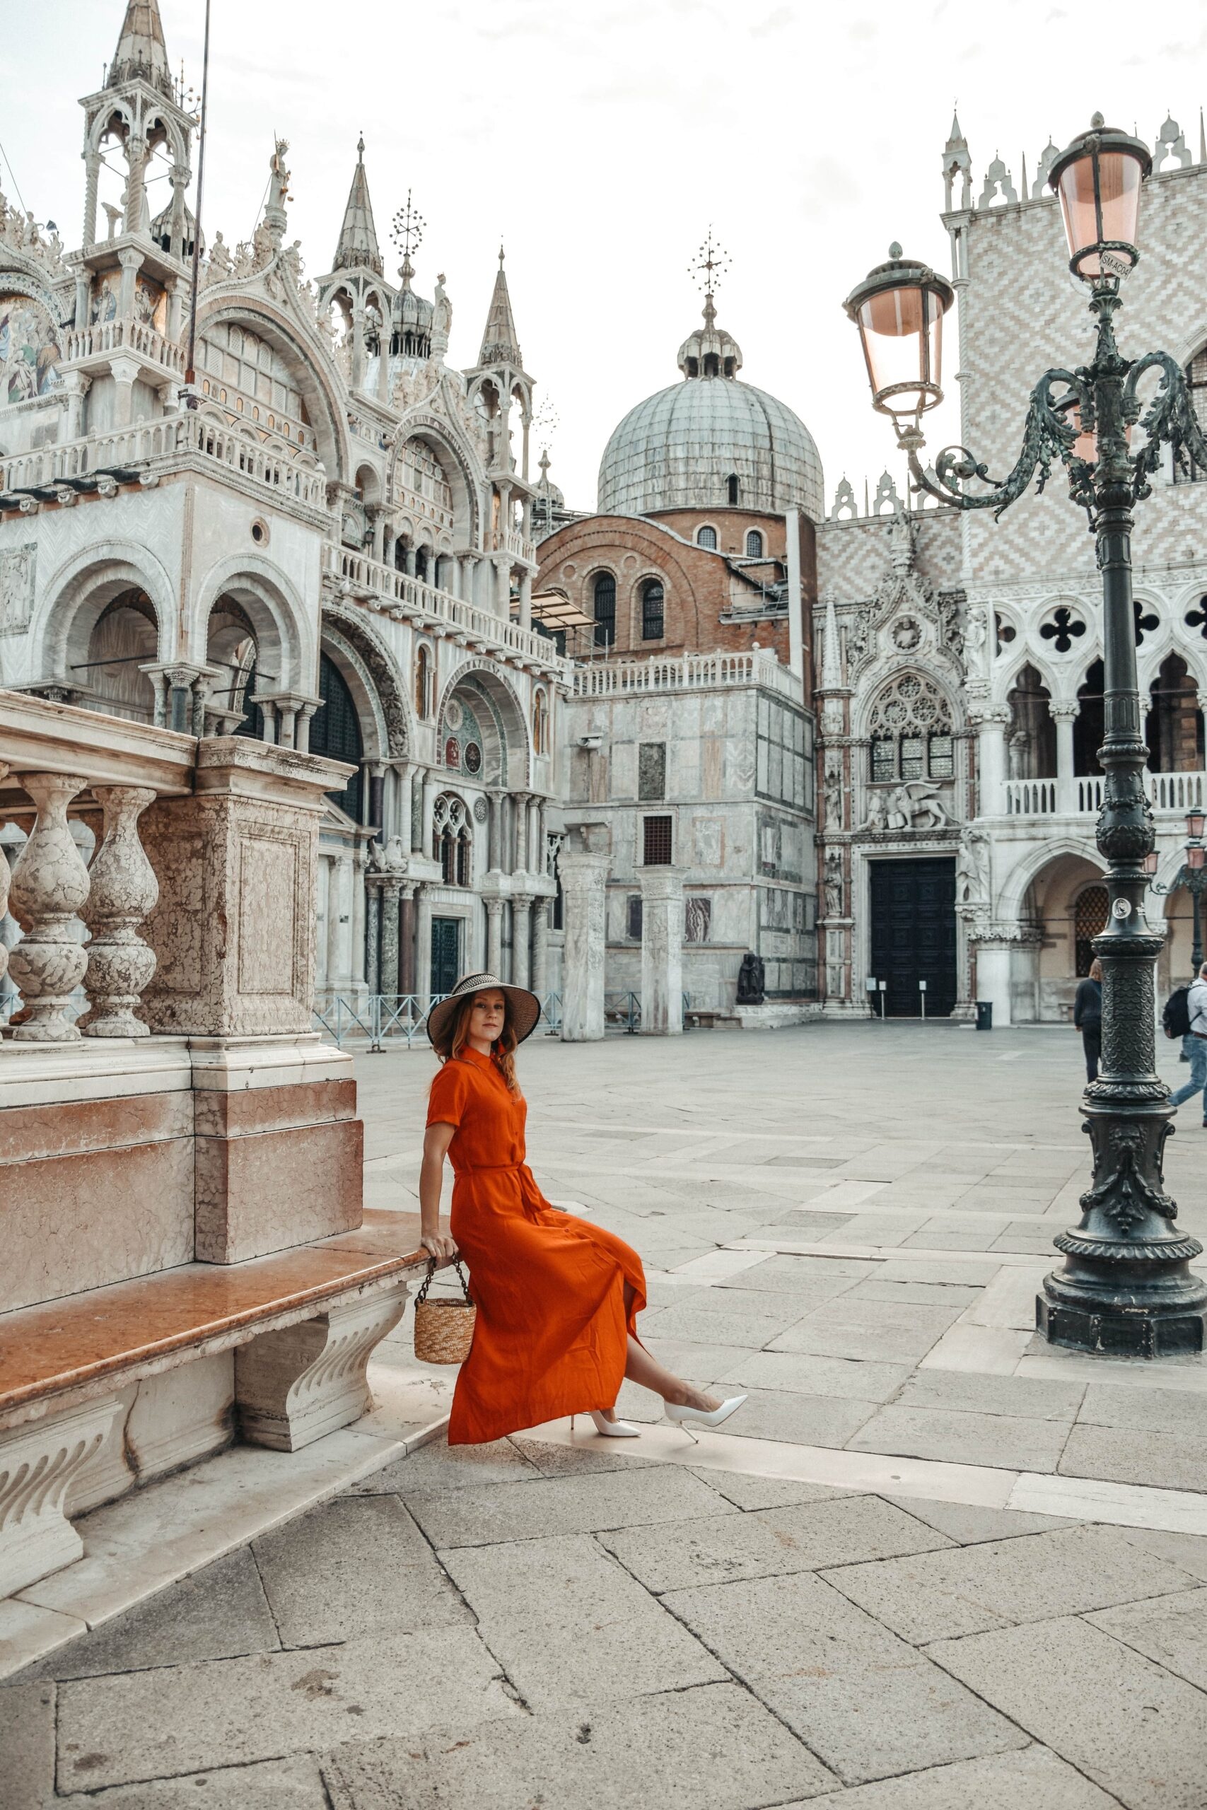
<svg viewBox="0 0 1207 1810">
<path fill-rule="evenodd" d="M 279 1645 L 255 1558 L 242 1546 L 67 1642 L 22 1678 L 96 1678 L 150 1665 L 271 1653 Z"/>
</svg>

